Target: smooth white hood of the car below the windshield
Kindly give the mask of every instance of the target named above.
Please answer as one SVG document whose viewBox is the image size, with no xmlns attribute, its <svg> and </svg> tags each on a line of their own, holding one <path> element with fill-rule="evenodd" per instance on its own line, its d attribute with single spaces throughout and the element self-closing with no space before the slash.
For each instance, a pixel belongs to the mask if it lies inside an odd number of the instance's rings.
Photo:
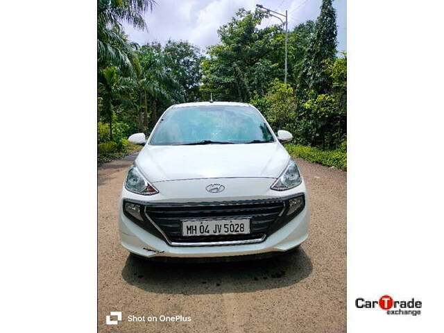
<svg viewBox="0 0 444 333">
<path fill-rule="evenodd" d="M 289 158 L 278 142 L 196 146 L 147 144 L 135 162 L 150 182 L 158 182 L 194 178 L 278 178 Z"/>
</svg>

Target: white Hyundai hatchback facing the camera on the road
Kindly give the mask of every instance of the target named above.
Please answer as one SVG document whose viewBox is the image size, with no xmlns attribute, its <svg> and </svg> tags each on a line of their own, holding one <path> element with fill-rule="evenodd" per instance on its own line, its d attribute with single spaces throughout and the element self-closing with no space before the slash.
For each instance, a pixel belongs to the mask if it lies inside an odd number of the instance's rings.
<svg viewBox="0 0 444 333">
<path fill-rule="evenodd" d="M 296 248 L 308 237 L 300 171 L 253 105 L 172 105 L 123 184 L 121 244 L 143 257 L 231 257 Z M 255 256 L 253 256 L 255 257 Z M 232 258 L 234 259 L 234 258 Z"/>
</svg>

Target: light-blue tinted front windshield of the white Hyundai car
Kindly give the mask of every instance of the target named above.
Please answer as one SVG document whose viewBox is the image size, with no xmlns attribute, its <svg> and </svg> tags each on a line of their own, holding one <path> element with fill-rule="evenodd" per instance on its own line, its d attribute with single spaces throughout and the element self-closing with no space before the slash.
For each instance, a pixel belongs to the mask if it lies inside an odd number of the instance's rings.
<svg viewBox="0 0 444 333">
<path fill-rule="evenodd" d="M 171 108 L 165 112 L 150 144 L 255 144 L 273 141 L 271 131 L 255 108 L 202 105 Z"/>
</svg>

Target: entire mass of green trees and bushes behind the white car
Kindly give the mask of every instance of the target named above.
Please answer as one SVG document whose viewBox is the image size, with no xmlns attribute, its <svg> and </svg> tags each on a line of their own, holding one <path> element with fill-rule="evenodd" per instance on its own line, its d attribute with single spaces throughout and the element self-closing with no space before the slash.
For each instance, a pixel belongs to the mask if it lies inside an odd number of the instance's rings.
<svg viewBox="0 0 444 333">
<path fill-rule="evenodd" d="M 323 0 L 316 23 L 307 21 L 289 31 L 287 85 L 282 83 L 284 31 L 281 24 L 260 28 L 269 17 L 266 12 L 239 9 L 219 28 L 221 42 L 209 46 L 204 57 L 186 41 L 139 46 L 128 40 L 122 23 L 146 28 L 144 13 L 154 3 L 98 1 L 100 161 L 140 148 L 126 138 L 148 134 L 171 104 L 207 101 L 212 93 L 215 101 L 252 103 L 274 130 L 293 133 L 299 148 L 292 149 L 313 162 L 346 169 L 341 147 L 346 138 L 347 56 L 336 58 L 332 0 Z"/>
</svg>

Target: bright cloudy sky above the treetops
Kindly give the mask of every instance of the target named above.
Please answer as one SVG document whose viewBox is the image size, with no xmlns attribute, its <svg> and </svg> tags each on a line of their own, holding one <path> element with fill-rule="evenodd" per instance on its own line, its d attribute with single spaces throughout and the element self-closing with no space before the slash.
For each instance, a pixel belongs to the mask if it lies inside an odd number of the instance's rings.
<svg viewBox="0 0 444 333">
<path fill-rule="evenodd" d="M 125 26 L 130 40 L 139 44 L 171 40 L 188 40 L 205 50 L 217 44 L 217 29 L 230 21 L 237 9 L 254 10 L 256 3 L 277 12 L 289 12 L 289 29 L 318 17 L 322 0 L 156 0 L 153 12 L 145 15 L 148 31 L 137 31 Z M 338 51 L 347 50 L 347 2 L 334 0 L 336 24 L 338 26 Z M 271 17 L 262 26 L 278 23 Z"/>
</svg>

